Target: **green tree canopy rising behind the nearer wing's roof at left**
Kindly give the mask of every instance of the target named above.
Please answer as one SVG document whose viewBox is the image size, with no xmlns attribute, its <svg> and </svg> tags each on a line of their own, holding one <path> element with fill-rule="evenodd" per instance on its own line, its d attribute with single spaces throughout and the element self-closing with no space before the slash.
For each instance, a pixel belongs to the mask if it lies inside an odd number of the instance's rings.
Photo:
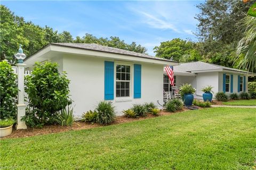
<svg viewBox="0 0 256 170">
<path fill-rule="evenodd" d="M 31 21 L 26 22 L 4 5 L 0 8 L 0 20 L 1 61 L 6 59 L 12 64 L 16 62 L 14 54 L 18 52 L 19 44 L 22 44 L 23 51 L 28 57 L 49 43 L 95 43 L 142 54 L 147 52 L 146 47 L 137 45 L 135 42 L 127 44 L 124 40 L 114 36 L 97 38 L 86 33 L 84 37 L 77 36 L 74 39 L 68 31 L 59 33 L 47 25 L 40 27 Z"/>
</svg>

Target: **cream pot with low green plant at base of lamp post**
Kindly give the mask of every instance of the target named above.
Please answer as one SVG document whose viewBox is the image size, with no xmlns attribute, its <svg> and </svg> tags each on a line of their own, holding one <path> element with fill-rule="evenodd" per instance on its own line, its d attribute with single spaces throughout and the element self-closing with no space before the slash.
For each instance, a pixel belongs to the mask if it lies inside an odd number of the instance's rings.
<svg viewBox="0 0 256 170">
<path fill-rule="evenodd" d="M 16 121 L 11 118 L 0 120 L 0 137 L 6 137 L 12 133 L 12 126 Z"/>
</svg>

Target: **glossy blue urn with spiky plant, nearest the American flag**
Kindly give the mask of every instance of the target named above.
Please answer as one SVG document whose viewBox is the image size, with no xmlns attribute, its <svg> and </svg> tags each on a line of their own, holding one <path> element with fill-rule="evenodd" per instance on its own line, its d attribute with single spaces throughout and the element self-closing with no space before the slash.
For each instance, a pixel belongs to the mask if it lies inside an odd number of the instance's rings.
<svg viewBox="0 0 256 170">
<path fill-rule="evenodd" d="M 182 97 L 183 103 L 185 106 L 191 106 L 193 104 L 194 96 L 196 89 L 191 86 L 191 84 L 183 84 L 180 87 L 180 95 Z"/>
</svg>

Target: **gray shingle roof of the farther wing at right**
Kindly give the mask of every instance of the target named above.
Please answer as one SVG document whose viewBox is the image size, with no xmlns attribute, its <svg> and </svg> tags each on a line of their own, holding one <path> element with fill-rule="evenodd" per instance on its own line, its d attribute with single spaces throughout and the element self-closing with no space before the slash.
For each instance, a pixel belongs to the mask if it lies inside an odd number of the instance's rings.
<svg viewBox="0 0 256 170">
<path fill-rule="evenodd" d="M 191 71 L 206 71 L 206 70 L 218 70 L 218 69 L 225 69 L 230 71 L 238 71 L 244 73 L 251 73 L 243 70 L 233 69 L 225 66 L 204 63 L 204 62 L 191 62 L 191 63 L 181 63 L 180 65 L 173 66 L 174 72 L 191 72 Z"/>
</svg>

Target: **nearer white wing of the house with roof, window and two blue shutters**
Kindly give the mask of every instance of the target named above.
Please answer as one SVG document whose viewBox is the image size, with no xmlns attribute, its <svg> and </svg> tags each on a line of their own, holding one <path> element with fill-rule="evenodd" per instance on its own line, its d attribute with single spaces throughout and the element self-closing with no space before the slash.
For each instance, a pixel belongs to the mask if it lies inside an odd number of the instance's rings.
<svg viewBox="0 0 256 170">
<path fill-rule="evenodd" d="M 163 103 L 163 67 L 179 65 L 127 50 L 97 44 L 53 43 L 31 55 L 27 70 L 35 62 L 59 63 L 66 71 L 74 114 L 81 116 L 99 101 L 111 101 L 117 114 L 135 103 Z"/>
</svg>

